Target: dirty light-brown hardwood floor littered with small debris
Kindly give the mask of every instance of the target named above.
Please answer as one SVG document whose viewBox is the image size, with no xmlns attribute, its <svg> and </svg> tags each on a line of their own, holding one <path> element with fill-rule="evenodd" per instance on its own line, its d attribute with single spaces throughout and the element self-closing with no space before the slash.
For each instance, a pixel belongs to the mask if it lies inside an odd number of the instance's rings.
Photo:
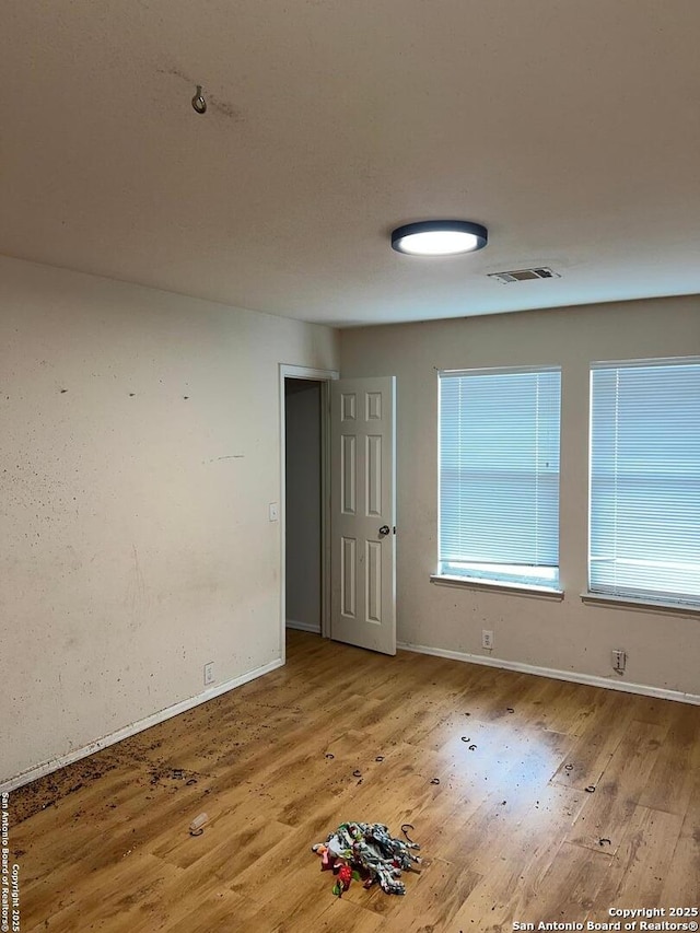
<svg viewBox="0 0 700 933">
<path fill-rule="evenodd" d="M 466 933 L 700 902 L 700 708 L 288 645 L 284 668 L 10 795 L 22 933 Z M 311 845 L 346 820 L 415 826 L 405 897 L 332 896 Z"/>
</svg>

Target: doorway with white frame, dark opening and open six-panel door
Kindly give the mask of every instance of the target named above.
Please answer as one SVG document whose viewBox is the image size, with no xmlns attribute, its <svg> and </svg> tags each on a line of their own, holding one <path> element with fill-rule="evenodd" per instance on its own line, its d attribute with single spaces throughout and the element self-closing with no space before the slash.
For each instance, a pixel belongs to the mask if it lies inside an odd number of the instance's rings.
<svg viewBox="0 0 700 933">
<path fill-rule="evenodd" d="M 396 378 L 334 380 L 280 364 L 282 661 L 288 628 L 396 654 Z"/>
</svg>

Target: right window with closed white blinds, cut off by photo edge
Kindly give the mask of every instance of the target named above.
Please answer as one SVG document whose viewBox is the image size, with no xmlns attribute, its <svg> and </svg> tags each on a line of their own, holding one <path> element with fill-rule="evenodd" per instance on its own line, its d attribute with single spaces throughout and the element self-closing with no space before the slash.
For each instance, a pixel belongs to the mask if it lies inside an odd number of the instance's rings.
<svg viewBox="0 0 700 933">
<path fill-rule="evenodd" d="M 700 605 L 700 360 L 591 373 L 593 593 Z"/>
</svg>

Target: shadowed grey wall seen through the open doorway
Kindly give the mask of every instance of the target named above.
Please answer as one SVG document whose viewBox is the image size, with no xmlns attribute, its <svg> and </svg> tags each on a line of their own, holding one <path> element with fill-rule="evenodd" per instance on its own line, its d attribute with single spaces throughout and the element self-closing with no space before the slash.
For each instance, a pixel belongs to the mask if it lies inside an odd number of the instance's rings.
<svg viewBox="0 0 700 933">
<path fill-rule="evenodd" d="M 287 385 L 287 620 L 320 632 L 320 383 Z"/>
</svg>

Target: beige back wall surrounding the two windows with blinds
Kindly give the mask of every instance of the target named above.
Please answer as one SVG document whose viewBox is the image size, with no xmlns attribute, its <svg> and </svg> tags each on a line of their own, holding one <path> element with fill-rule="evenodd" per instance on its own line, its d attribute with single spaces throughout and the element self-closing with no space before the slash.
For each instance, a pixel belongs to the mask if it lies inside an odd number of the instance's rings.
<svg viewBox="0 0 700 933">
<path fill-rule="evenodd" d="M 511 288 L 509 285 L 509 288 Z M 528 284 L 512 285 L 528 288 Z M 700 353 L 700 299 L 674 298 L 349 329 L 343 377 L 397 376 L 398 639 L 619 680 L 609 653 L 629 653 L 626 680 L 700 695 L 700 616 L 584 605 L 587 547 L 588 363 Z M 562 365 L 563 602 L 431 584 L 436 569 L 439 369 Z"/>
</svg>

